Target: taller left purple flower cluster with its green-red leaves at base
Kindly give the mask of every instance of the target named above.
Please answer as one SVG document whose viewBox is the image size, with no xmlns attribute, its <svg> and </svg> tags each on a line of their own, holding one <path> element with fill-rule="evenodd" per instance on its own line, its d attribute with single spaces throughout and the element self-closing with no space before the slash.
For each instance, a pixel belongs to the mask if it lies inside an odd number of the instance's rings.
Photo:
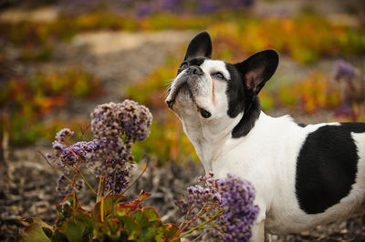
<svg viewBox="0 0 365 242">
<path fill-rule="evenodd" d="M 145 106 L 131 100 L 97 106 L 91 113 L 91 130 L 96 138 L 70 144 L 74 134 L 64 128 L 52 143 L 54 154 L 45 158 L 49 165 L 61 173 L 57 179 L 57 192 L 66 196 L 57 206 L 54 227 L 40 218 L 24 220 L 26 229 L 20 241 L 82 241 L 82 240 L 168 240 L 177 231 L 172 224 L 164 224 L 153 207 L 142 207 L 141 202 L 151 194 L 141 191 L 130 202 L 120 202 L 128 187 L 133 164 L 131 146 L 149 136 L 152 116 Z M 80 172 L 80 166 L 99 177 L 95 191 Z M 96 195 L 94 209 L 83 209 L 76 192 L 87 184 Z"/>
</svg>

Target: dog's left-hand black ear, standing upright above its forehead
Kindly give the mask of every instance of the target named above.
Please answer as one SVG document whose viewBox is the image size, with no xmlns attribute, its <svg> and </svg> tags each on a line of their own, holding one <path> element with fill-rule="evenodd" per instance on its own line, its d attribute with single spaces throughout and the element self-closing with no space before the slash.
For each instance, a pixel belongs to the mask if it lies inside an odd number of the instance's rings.
<svg viewBox="0 0 365 242">
<path fill-rule="evenodd" d="M 195 57 L 212 57 L 212 40 L 207 32 L 196 35 L 190 42 L 183 60 L 193 59 Z"/>
</svg>

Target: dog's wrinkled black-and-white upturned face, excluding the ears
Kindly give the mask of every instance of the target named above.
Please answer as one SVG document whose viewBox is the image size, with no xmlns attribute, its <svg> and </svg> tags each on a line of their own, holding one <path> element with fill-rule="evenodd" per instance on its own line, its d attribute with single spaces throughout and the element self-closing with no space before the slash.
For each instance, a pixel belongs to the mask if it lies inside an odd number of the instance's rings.
<svg viewBox="0 0 365 242">
<path fill-rule="evenodd" d="M 186 109 L 191 110 L 191 115 L 207 119 L 226 115 L 230 79 L 223 61 L 193 58 L 180 66 L 166 100 L 178 116 L 183 116 Z"/>
</svg>

